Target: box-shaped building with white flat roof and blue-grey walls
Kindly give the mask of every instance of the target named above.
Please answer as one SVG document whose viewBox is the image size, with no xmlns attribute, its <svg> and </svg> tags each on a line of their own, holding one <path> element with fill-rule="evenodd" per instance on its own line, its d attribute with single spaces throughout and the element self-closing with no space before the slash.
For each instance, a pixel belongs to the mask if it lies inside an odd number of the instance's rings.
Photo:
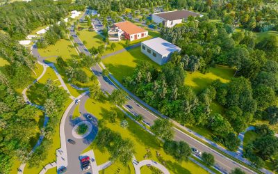
<svg viewBox="0 0 278 174">
<path fill-rule="evenodd" d="M 153 38 L 141 42 L 141 52 L 156 62 L 158 65 L 163 65 L 169 61 L 173 52 L 180 52 L 181 48 L 162 39 Z"/>
</svg>

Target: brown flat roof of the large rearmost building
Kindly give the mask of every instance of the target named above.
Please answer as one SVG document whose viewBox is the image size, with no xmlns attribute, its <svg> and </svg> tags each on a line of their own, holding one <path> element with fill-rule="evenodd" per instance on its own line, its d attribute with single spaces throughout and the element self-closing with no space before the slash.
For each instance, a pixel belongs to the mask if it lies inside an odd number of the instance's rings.
<svg viewBox="0 0 278 174">
<path fill-rule="evenodd" d="M 177 11 L 170 11 L 170 12 L 163 12 L 163 13 L 154 13 L 154 15 L 157 15 L 159 17 L 162 17 L 166 20 L 177 20 L 177 19 L 187 19 L 188 16 L 202 16 L 199 13 L 195 13 L 188 10 L 177 10 Z"/>
</svg>

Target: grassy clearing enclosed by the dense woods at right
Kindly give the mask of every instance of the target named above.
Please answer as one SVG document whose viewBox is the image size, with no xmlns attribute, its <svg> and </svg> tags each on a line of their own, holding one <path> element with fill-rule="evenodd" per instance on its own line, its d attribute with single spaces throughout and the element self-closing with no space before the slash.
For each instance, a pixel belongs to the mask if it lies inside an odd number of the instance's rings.
<svg viewBox="0 0 278 174">
<path fill-rule="evenodd" d="M 234 70 L 225 66 L 217 65 L 215 68 L 210 68 L 209 70 L 206 74 L 202 74 L 201 72 L 186 73 L 184 84 L 192 86 L 193 90 L 199 93 L 216 79 L 227 83 L 234 76 Z"/>
</svg>

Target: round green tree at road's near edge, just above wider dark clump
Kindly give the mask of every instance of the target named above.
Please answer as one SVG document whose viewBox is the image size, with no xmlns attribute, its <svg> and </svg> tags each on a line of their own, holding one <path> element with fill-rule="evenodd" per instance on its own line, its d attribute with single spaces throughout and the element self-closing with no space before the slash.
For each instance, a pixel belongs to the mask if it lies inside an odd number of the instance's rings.
<svg viewBox="0 0 278 174">
<path fill-rule="evenodd" d="M 172 129 L 172 122 L 167 119 L 156 119 L 151 130 L 156 136 L 161 139 L 171 140 L 174 137 L 174 131 Z"/>
</svg>

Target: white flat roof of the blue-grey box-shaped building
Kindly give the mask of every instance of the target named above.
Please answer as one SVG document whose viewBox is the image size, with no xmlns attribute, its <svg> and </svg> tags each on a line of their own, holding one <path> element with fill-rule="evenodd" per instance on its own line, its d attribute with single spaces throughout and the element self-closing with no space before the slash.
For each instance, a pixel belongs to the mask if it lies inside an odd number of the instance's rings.
<svg viewBox="0 0 278 174">
<path fill-rule="evenodd" d="M 162 38 L 153 38 L 142 42 L 142 44 L 153 49 L 155 52 L 161 55 L 168 55 L 172 52 L 180 51 L 181 48 L 173 45 L 172 43 L 162 39 Z"/>
</svg>

